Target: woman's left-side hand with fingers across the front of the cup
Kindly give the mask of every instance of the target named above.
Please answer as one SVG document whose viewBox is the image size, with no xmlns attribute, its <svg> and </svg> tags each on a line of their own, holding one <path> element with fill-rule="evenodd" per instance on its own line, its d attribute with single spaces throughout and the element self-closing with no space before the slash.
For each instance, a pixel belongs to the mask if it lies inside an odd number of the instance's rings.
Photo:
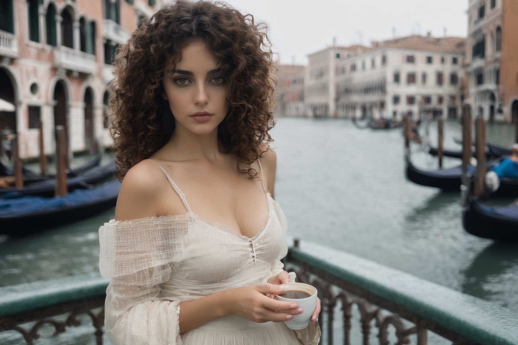
<svg viewBox="0 0 518 345">
<path fill-rule="evenodd" d="M 221 291 L 223 312 L 259 323 L 291 320 L 294 314 L 303 312 L 296 303 L 277 301 L 265 295 L 277 295 L 283 290 L 274 284 L 256 284 Z"/>
</svg>

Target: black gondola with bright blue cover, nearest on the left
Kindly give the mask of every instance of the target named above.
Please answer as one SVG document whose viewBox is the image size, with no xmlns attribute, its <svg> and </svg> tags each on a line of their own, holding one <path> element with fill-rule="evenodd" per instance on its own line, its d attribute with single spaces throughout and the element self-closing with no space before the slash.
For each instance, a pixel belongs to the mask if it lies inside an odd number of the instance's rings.
<svg viewBox="0 0 518 345">
<path fill-rule="evenodd" d="M 113 181 L 61 197 L 0 199 L 0 233 L 23 236 L 91 217 L 115 206 L 120 187 Z"/>
</svg>

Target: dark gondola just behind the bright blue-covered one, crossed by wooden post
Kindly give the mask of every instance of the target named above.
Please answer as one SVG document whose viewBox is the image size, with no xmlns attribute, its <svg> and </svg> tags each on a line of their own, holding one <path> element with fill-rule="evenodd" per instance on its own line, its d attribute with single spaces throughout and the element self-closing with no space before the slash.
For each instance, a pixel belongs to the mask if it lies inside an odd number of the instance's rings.
<svg viewBox="0 0 518 345">
<path fill-rule="evenodd" d="M 97 184 L 113 176 L 116 171 L 115 162 L 111 161 L 103 166 L 97 166 L 88 171 L 83 172 L 75 177 L 67 178 L 68 191 L 77 188 L 90 188 L 92 184 Z M 46 179 L 45 181 L 34 182 L 22 188 L 8 187 L 0 188 L 1 198 L 16 198 L 22 196 L 40 196 L 52 197 L 56 185 L 55 178 Z"/>
</svg>

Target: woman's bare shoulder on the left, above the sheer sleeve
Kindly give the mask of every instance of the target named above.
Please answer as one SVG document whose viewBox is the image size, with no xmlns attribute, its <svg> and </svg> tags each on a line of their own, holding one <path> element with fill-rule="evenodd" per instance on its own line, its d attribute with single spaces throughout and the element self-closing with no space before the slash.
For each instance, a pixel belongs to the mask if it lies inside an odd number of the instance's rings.
<svg viewBox="0 0 518 345">
<path fill-rule="evenodd" d="M 157 195 L 162 188 L 163 172 L 155 163 L 143 160 L 132 167 L 122 181 L 116 220 L 130 220 L 159 215 Z"/>
</svg>

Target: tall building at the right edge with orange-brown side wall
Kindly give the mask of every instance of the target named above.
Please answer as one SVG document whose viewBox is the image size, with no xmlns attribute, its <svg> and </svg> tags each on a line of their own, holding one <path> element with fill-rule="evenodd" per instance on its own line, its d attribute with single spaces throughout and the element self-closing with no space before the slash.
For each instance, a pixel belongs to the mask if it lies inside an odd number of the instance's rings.
<svg viewBox="0 0 518 345">
<path fill-rule="evenodd" d="M 518 122 L 518 2 L 469 0 L 466 65 L 473 114 Z"/>
</svg>

